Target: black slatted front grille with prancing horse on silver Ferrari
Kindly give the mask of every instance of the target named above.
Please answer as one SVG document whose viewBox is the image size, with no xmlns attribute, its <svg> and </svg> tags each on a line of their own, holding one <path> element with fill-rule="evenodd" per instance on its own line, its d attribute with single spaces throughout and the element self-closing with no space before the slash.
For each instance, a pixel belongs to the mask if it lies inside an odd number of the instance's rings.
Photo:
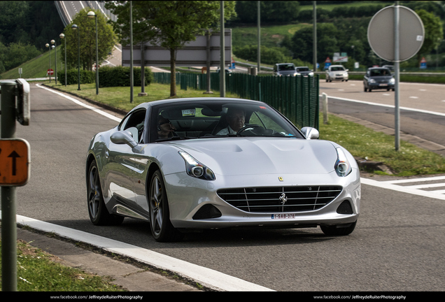
<svg viewBox="0 0 445 302">
<path fill-rule="evenodd" d="M 250 213 L 306 212 L 323 208 L 339 196 L 341 186 L 246 187 L 219 189 L 230 205 Z"/>
</svg>

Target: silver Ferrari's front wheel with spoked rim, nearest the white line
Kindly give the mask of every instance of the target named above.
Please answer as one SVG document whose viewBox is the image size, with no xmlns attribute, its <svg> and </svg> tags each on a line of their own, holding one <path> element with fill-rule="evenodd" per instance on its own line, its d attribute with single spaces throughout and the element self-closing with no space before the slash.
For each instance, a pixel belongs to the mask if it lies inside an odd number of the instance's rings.
<svg viewBox="0 0 445 302">
<path fill-rule="evenodd" d="M 157 170 L 153 174 L 148 194 L 150 229 L 155 240 L 159 242 L 181 240 L 182 233 L 175 229 L 170 221 L 169 201 L 161 171 Z"/>
</svg>

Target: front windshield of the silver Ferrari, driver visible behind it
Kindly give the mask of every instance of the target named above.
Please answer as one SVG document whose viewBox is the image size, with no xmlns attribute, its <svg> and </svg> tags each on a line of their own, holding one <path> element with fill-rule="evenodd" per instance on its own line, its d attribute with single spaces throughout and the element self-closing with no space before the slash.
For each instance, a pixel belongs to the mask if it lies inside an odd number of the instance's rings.
<svg viewBox="0 0 445 302">
<path fill-rule="evenodd" d="M 151 143 L 233 136 L 304 138 L 285 117 L 260 102 L 204 99 L 154 106 L 151 113 Z"/>
</svg>

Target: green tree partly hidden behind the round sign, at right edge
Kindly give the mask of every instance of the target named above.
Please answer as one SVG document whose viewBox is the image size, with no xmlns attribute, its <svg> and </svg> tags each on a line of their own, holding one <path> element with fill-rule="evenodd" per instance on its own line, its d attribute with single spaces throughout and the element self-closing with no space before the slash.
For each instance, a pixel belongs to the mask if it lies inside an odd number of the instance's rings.
<svg viewBox="0 0 445 302">
<path fill-rule="evenodd" d="M 439 46 L 444 38 L 444 31 L 442 22 L 439 17 L 433 13 L 428 13 L 426 10 L 416 10 L 416 13 L 421 18 L 423 27 L 425 28 L 425 37 L 423 38 L 423 45 L 417 52 L 418 66 L 421 64 L 421 57 L 427 55 Z"/>
</svg>

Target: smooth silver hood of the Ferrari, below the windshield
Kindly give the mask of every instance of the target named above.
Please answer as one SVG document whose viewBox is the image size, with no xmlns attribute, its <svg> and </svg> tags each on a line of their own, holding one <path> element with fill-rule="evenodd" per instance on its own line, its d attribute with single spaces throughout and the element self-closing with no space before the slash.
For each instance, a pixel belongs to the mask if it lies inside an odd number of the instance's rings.
<svg viewBox="0 0 445 302">
<path fill-rule="evenodd" d="M 337 160 L 331 142 L 297 138 L 207 138 L 177 147 L 220 175 L 330 173 Z"/>
</svg>

